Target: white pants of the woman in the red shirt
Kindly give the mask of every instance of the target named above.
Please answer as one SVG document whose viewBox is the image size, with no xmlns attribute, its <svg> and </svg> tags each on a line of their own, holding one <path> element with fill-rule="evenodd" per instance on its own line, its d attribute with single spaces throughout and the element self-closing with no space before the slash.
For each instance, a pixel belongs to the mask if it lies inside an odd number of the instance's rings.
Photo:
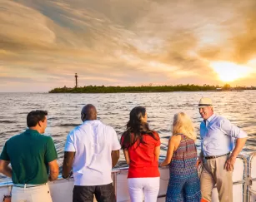
<svg viewBox="0 0 256 202">
<path fill-rule="evenodd" d="M 158 200 L 160 178 L 128 178 L 128 189 L 131 202 L 156 202 Z"/>
</svg>

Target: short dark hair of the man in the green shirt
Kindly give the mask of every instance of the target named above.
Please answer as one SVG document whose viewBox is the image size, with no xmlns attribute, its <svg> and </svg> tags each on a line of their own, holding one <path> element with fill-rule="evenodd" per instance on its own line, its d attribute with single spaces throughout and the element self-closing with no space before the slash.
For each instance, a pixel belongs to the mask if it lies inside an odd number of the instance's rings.
<svg viewBox="0 0 256 202">
<path fill-rule="evenodd" d="M 37 126 L 39 121 L 44 121 L 45 116 L 48 116 L 48 111 L 36 110 L 30 111 L 27 116 L 27 126 L 34 127 Z"/>
</svg>

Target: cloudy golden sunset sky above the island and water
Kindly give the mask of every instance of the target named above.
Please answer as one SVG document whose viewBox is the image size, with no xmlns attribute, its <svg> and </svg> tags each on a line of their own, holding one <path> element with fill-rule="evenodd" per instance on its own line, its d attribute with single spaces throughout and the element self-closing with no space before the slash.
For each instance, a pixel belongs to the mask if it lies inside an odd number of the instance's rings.
<svg viewBox="0 0 256 202">
<path fill-rule="evenodd" d="M 0 91 L 256 86 L 255 0 L 1 0 Z"/>
</svg>

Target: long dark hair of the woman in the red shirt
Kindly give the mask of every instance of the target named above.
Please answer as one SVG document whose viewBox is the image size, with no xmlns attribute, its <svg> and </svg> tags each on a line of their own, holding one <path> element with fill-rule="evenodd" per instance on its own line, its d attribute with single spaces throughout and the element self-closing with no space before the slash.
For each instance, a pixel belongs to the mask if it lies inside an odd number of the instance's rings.
<svg viewBox="0 0 256 202">
<path fill-rule="evenodd" d="M 127 150 L 136 141 L 146 144 L 143 141 L 143 135 L 150 135 L 153 139 L 158 140 L 153 131 L 149 129 L 148 123 L 143 122 L 142 118 L 146 116 L 146 108 L 143 106 L 136 106 L 130 112 L 130 119 L 126 125 L 126 131 L 123 132 L 121 138 L 121 145 L 123 150 Z"/>
</svg>

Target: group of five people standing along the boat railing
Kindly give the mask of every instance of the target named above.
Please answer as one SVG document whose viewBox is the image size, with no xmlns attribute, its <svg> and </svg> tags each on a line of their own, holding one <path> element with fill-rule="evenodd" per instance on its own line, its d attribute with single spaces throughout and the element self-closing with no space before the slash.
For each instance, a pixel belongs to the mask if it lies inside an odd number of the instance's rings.
<svg viewBox="0 0 256 202">
<path fill-rule="evenodd" d="M 193 122 L 183 112 L 173 117 L 173 135 L 163 162 L 160 137 L 148 126 L 147 111 L 136 106 L 130 111 L 126 130 L 118 140 L 113 127 L 97 120 L 95 106 L 81 111 L 83 124 L 68 134 L 63 159 L 63 178 L 73 175 L 73 202 L 114 202 L 112 168 L 123 154 L 128 168 L 128 192 L 132 202 L 155 202 L 158 198 L 159 166 L 169 166 L 166 201 L 211 201 L 217 185 L 220 202 L 233 201 L 233 166 L 247 134 L 223 116 L 213 113 L 211 99 L 198 104 L 201 152 L 198 155 Z M 28 129 L 6 141 L 0 155 L 0 172 L 13 180 L 13 202 L 52 202 L 48 180 L 58 179 L 58 155 L 53 139 L 44 133 L 47 111 L 31 111 Z M 235 141 L 236 140 L 236 141 Z M 12 167 L 9 166 L 12 165 Z M 198 165 L 203 165 L 198 175 Z"/>
</svg>

